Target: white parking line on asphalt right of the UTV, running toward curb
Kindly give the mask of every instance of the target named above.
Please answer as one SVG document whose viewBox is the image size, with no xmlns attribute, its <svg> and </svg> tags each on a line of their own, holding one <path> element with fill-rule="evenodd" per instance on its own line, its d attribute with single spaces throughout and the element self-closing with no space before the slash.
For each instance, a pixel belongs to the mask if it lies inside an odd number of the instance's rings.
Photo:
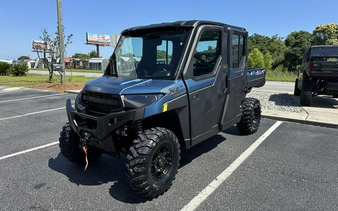
<svg viewBox="0 0 338 211">
<path fill-rule="evenodd" d="M 220 173 L 212 182 L 199 192 L 190 202 L 188 202 L 181 211 L 192 211 L 202 203 L 258 146 L 267 136 L 269 136 L 282 121 L 275 122 L 264 134 L 262 134 L 249 148 L 247 148 L 235 161 L 233 161 L 222 173 Z"/>
</svg>

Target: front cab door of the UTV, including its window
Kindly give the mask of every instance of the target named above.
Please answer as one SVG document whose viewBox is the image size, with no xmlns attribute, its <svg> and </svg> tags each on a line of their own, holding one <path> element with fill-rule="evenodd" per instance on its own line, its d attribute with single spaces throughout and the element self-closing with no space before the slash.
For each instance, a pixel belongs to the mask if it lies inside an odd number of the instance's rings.
<svg viewBox="0 0 338 211">
<path fill-rule="evenodd" d="M 190 103 L 191 146 L 219 132 L 226 95 L 226 33 L 221 26 L 197 29 L 185 80 Z"/>
</svg>

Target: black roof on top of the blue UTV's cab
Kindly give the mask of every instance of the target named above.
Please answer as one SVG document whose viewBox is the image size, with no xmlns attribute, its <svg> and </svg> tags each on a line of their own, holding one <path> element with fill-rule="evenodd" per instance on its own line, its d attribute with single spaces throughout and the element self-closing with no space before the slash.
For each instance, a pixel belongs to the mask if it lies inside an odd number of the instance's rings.
<svg viewBox="0 0 338 211">
<path fill-rule="evenodd" d="M 127 31 L 134 31 L 134 30 L 143 30 L 143 29 L 151 29 L 151 28 L 162 28 L 162 27 L 194 27 L 197 24 L 213 24 L 213 25 L 221 25 L 224 27 L 231 27 L 238 30 L 245 31 L 245 28 L 225 24 L 222 22 L 216 22 L 216 21 L 210 21 L 210 20 L 179 20 L 175 22 L 162 22 L 162 23 L 156 23 L 156 24 L 150 24 L 150 25 L 139 25 L 131 28 L 127 28 L 123 30 L 121 33 L 125 33 Z"/>
</svg>

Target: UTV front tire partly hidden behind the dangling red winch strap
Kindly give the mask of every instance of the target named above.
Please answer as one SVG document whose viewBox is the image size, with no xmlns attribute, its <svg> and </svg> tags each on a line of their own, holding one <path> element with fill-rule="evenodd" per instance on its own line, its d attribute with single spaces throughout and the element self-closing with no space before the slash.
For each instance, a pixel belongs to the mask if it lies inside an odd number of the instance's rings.
<svg viewBox="0 0 338 211">
<path fill-rule="evenodd" d="M 60 132 L 59 146 L 62 154 L 71 162 L 76 164 L 86 163 L 86 153 L 80 147 L 80 137 L 73 130 L 69 122 L 63 126 Z M 102 151 L 94 146 L 88 146 L 87 158 L 88 162 L 93 162 L 101 157 Z"/>
</svg>

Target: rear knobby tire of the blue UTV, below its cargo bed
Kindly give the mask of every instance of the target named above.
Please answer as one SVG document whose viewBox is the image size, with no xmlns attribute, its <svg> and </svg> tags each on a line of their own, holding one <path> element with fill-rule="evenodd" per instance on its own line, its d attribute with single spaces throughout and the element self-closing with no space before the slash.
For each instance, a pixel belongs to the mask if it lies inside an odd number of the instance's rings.
<svg viewBox="0 0 338 211">
<path fill-rule="evenodd" d="M 236 124 L 237 129 L 245 135 L 255 133 L 260 125 L 261 106 L 256 98 L 245 98 L 242 101 L 242 116 Z"/>
</svg>

